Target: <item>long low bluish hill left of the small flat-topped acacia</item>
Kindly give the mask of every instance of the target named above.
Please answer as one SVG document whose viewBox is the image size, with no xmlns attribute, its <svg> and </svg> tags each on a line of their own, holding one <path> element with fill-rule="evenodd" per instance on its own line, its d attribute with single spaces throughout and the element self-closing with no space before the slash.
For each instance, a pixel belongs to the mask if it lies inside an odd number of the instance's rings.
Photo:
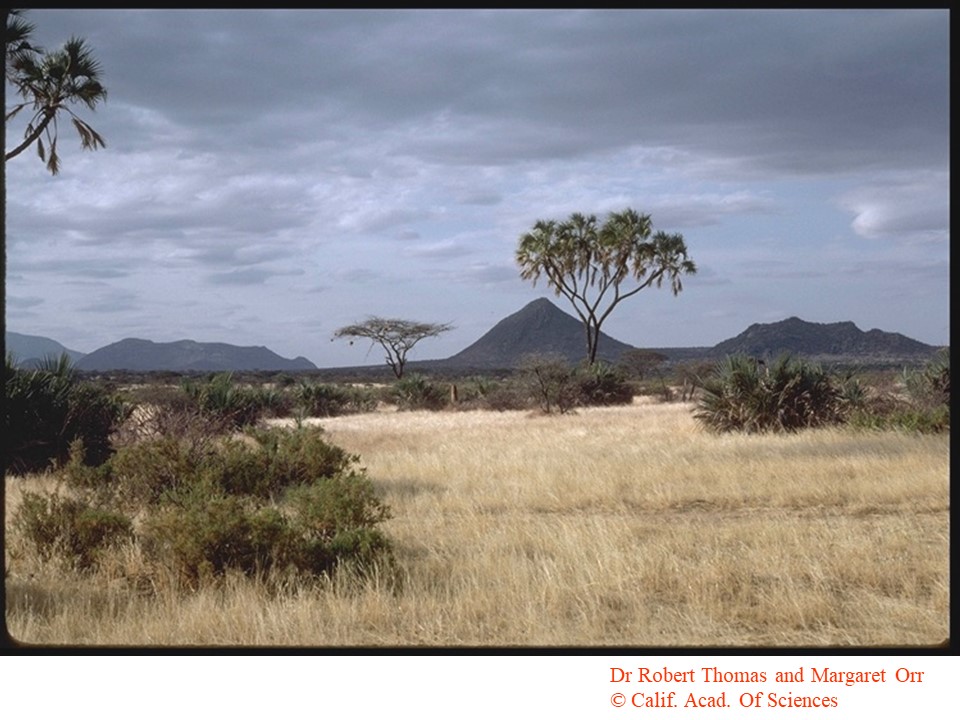
<svg viewBox="0 0 960 720">
<path fill-rule="evenodd" d="M 226 343 L 179 340 L 155 343 L 128 338 L 85 355 L 79 370 L 128 370 L 131 372 L 224 372 L 252 370 L 316 370 L 303 357 L 280 357 L 265 347 L 239 347 Z"/>
</svg>

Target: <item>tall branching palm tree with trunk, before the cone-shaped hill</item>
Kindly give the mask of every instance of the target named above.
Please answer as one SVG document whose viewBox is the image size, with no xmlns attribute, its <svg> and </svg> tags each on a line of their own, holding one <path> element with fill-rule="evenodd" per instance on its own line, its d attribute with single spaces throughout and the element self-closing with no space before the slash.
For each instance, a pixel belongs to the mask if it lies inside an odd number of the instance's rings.
<svg viewBox="0 0 960 720">
<path fill-rule="evenodd" d="M 536 285 L 541 275 L 573 305 L 587 336 L 587 361 L 597 359 L 600 326 L 623 300 L 650 286 L 670 283 L 674 295 L 682 275 L 697 267 L 679 233 L 653 232 L 649 215 L 627 208 L 567 220 L 539 220 L 520 236 L 516 260 L 520 277 Z"/>
</svg>

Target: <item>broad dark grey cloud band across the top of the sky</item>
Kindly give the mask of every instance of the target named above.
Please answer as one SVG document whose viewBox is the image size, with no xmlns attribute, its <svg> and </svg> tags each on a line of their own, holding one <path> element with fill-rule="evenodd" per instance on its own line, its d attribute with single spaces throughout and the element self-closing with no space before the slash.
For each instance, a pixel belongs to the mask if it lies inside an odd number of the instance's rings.
<svg viewBox="0 0 960 720">
<path fill-rule="evenodd" d="M 128 11 L 109 43 L 99 13 L 36 15 L 103 38 L 108 67 L 177 58 L 116 92 L 219 128 L 211 149 L 389 130 L 393 153 L 471 164 L 624 145 L 797 172 L 944 161 L 944 12 Z"/>
</svg>

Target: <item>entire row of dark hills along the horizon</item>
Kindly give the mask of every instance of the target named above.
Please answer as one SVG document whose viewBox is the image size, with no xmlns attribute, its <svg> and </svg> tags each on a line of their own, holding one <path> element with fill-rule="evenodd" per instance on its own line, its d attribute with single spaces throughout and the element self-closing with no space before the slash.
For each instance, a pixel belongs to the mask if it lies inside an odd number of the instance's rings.
<svg viewBox="0 0 960 720">
<path fill-rule="evenodd" d="M 60 343 L 35 335 L 6 333 L 7 351 L 22 365 L 35 364 L 47 356 L 66 353 L 79 370 L 129 370 L 133 372 L 307 371 L 317 366 L 304 357 L 283 358 L 268 348 L 240 347 L 227 343 L 180 340 L 155 343 L 127 338 L 89 354 L 70 350 Z M 529 354 L 553 354 L 574 363 L 586 349 L 583 324 L 550 300 L 541 298 L 505 317 L 479 340 L 443 360 L 411 362 L 409 367 L 442 371 L 509 370 Z M 633 346 L 601 333 L 598 357 L 614 362 Z M 781 352 L 814 360 L 865 363 L 922 361 L 938 348 L 899 333 L 869 330 L 852 322 L 813 323 L 797 317 L 775 323 L 756 323 L 736 337 L 712 347 L 644 348 L 654 350 L 668 362 L 715 360 L 745 353 L 772 357 Z"/>
</svg>

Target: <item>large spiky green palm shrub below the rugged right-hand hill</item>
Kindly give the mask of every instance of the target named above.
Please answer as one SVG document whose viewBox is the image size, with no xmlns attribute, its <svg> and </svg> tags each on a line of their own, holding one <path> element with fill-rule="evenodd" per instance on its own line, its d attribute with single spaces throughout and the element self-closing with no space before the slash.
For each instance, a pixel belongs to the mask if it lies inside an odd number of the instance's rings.
<svg viewBox="0 0 960 720">
<path fill-rule="evenodd" d="M 694 416 L 716 431 L 792 431 L 843 421 L 842 395 L 819 365 L 784 354 L 769 365 L 745 355 L 717 363 Z"/>
</svg>

